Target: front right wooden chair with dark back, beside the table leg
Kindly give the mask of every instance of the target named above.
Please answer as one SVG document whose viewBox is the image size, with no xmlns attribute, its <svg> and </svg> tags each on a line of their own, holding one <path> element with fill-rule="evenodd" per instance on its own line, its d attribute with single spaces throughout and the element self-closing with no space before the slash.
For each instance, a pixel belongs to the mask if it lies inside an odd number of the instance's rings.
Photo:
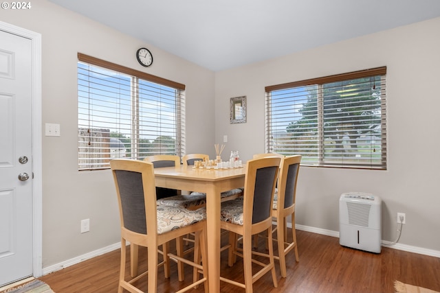
<svg viewBox="0 0 440 293">
<path fill-rule="evenodd" d="M 272 235 L 272 202 L 280 162 L 281 159 L 276 157 L 248 161 L 243 197 L 221 204 L 220 227 L 230 232 L 229 244 L 225 246 L 228 249 L 228 265 L 234 264 L 235 255 L 243 257 L 245 282 L 243 284 L 224 277 L 220 277 L 220 280 L 245 288 L 246 293 L 252 293 L 253 283 L 267 272 L 272 272 L 274 287 L 278 287 L 273 244 L 269 243 L 268 254 L 256 253 L 267 257 L 268 263 L 256 261 L 252 259 L 252 235 L 263 231 L 267 231 L 267 235 Z M 237 246 L 237 235 L 242 235 L 242 249 Z M 252 274 L 252 263 L 263 268 Z"/>
</svg>

